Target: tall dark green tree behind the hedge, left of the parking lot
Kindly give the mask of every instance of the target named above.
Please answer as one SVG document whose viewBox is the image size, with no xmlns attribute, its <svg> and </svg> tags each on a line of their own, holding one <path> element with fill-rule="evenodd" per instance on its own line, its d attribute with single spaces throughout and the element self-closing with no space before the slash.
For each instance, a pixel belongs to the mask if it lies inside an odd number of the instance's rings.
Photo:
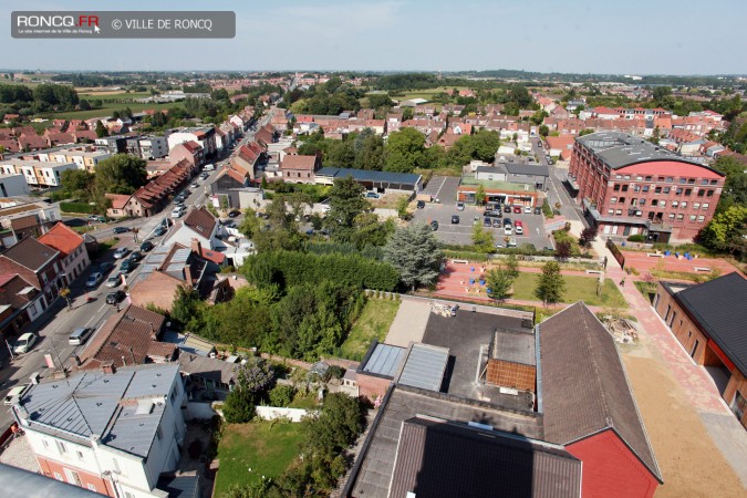
<svg viewBox="0 0 747 498">
<path fill-rule="evenodd" d="M 324 226 L 335 240 L 350 241 L 355 217 L 371 207 L 363 197 L 364 191 L 365 188 L 352 176 L 335 178 L 330 189 L 330 211 L 324 218 Z"/>
</svg>

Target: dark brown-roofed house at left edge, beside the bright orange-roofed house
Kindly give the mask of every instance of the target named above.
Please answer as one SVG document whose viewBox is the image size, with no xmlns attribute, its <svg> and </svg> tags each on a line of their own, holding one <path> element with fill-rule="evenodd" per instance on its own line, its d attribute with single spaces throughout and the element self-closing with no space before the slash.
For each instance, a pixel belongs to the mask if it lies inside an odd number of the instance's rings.
<svg viewBox="0 0 747 498">
<path fill-rule="evenodd" d="M 18 273 L 41 291 L 41 305 L 45 310 L 56 299 L 59 290 L 70 284 L 58 262 L 59 256 L 56 249 L 27 237 L 0 255 L 0 274 Z"/>
</svg>

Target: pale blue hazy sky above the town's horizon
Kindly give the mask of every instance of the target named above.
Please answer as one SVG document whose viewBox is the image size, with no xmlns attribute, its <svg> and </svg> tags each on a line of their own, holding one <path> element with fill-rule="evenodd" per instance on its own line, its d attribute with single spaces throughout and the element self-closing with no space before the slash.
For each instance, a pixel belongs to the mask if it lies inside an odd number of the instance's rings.
<svg viewBox="0 0 747 498">
<path fill-rule="evenodd" d="M 3 0 L 8 6 L 10 0 Z M 234 10 L 225 40 L 15 40 L 41 71 L 468 71 L 747 74 L 747 1 L 23 0 L 18 10 Z"/>
</svg>

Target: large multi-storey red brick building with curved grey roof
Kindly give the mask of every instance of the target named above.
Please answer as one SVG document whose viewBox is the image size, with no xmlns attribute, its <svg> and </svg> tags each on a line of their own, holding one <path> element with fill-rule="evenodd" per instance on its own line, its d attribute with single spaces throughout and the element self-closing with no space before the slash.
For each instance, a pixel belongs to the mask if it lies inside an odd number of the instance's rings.
<svg viewBox="0 0 747 498">
<path fill-rule="evenodd" d="M 571 185 L 588 220 L 608 236 L 689 240 L 716 210 L 725 175 L 640 137 L 606 132 L 575 139 Z"/>
</svg>

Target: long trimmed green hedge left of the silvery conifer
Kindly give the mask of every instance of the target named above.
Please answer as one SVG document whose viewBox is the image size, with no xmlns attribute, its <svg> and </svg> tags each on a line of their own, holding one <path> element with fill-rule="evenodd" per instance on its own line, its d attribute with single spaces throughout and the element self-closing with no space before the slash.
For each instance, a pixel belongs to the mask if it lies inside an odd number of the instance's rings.
<svg viewBox="0 0 747 498">
<path fill-rule="evenodd" d="M 392 264 L 357 255 L 277 251 L 249 258 L 241 270 L 256 284 L 293 287 L 332 280 L 364 289 L 392 291 L 400 283 L 400 273 Z"/>
</svg>

